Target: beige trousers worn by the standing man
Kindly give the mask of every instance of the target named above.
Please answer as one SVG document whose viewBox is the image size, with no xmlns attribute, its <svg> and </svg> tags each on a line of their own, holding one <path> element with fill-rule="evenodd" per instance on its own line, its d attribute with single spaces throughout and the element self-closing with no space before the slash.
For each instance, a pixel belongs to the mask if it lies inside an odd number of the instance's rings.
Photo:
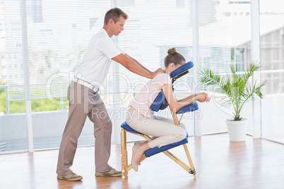
<svg viewBox="0 0 284 189">
<path fill-rule="evenodd" d="M 72 81 L 68 88 L 68 99 L 69 117 L 59 149 L 57 174 L 66 176 L 73 173 L 70 167 L 73 164 L 78 138 L 87 116 L 94 123 L 95 171 L 110 171 L 112 167 L 107 162 L 110 159 L 112 121 L 100 95 Z M 81 164 L 85 162 L 82 161 Z"/>
</svg>

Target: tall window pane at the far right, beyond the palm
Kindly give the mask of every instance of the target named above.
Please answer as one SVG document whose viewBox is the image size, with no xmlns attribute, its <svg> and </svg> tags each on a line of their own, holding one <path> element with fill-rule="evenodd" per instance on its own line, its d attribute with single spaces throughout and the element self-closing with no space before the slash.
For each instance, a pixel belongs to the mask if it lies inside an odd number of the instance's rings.
<svg viewBox="0 0 284 189">
<path fill-rule="evenodd" d="M 261 103 L 262 136 L 284 143 L 284 3 L 260 0 L 261 80 L 267 80 Z"/>
</svg>

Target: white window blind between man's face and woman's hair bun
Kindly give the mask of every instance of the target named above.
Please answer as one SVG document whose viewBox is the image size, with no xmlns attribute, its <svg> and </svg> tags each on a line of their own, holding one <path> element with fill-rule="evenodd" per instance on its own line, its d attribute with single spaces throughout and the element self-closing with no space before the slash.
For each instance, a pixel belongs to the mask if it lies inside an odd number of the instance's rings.
<svg viewBox="0 0 284 189">
<path fill-rule="evenodd" d="M 129 14 L 119 44 L 124 51 L 150 71 L 164 68 L 167 50 L 176 47 L 187 61 L 192 61 L 190 1 L 135 1 L 124 5 Z M 120 83 L 120 92 L 138 92 L 149 79 L 125 71 L 129 83 Z M 129 86 L 131 85 L 131 86 Z"/>
</svg>

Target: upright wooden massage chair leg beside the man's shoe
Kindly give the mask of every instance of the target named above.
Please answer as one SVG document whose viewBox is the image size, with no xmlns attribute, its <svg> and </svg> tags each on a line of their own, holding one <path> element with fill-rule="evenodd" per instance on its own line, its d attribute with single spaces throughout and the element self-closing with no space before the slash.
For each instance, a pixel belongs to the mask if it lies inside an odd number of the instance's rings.
<svg viewBox="0 0 284 189">
<path fill-rule="evenodd" d="M 128 166 L 128 161 L 127 161 L 127 149 L 126 149 L 126 131 L 122 128 L 122 132 L 120 133 L 121 135 L 121 143 L 122 143 L 122 180 L 125 180 L 128 171 L 126 167 Z"/>
</svg>

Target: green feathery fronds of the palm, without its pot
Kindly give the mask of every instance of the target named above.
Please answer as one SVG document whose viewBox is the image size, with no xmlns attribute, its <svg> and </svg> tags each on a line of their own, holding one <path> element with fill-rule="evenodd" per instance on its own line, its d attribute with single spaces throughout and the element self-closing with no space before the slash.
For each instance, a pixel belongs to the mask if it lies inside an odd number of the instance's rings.
<svg viewBox="0 0 284 189">
<path fill-rule="evenodd" d="M 255 71 L 259 70 L 260 64 L 250 63 L 249 68 L 244 73 L 237 73 L 234 65 L 230 65 L 230 73 L 227 75 L 220 75 L 218 71 L 212 71 L 211 69 L 204 69 L 201 71 L 201 83 L 205 85 L 215 85 L 220 87 L 225 92 L 225 101 L 222 106 L 234 107 L 234 119 L 241 120 L 240 112 L 245 103 L 254 100 L 254 94 L 259 98 L 263 98 L 261 93 L 261 87 L 266 85 L 266 80 L 256 85 L 255 83 L 249 83 L 249 78 L 252 77 Z"/>
</svg>

